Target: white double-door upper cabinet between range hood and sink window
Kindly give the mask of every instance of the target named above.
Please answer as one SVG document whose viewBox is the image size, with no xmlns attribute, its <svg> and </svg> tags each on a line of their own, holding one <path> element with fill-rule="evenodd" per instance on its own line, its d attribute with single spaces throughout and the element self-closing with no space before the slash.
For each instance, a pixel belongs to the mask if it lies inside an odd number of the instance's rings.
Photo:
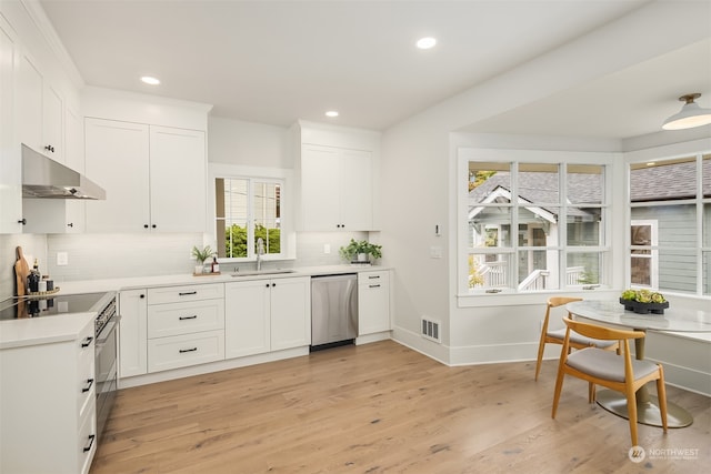
<svg viewBox="0 0 711 474">
<path fill-rule="evenodd" d="M 203 232 L 204 132 L 91 119 L 87 175 L 107 191 L 87 205 L 88 232 Z"/>
</svg>

